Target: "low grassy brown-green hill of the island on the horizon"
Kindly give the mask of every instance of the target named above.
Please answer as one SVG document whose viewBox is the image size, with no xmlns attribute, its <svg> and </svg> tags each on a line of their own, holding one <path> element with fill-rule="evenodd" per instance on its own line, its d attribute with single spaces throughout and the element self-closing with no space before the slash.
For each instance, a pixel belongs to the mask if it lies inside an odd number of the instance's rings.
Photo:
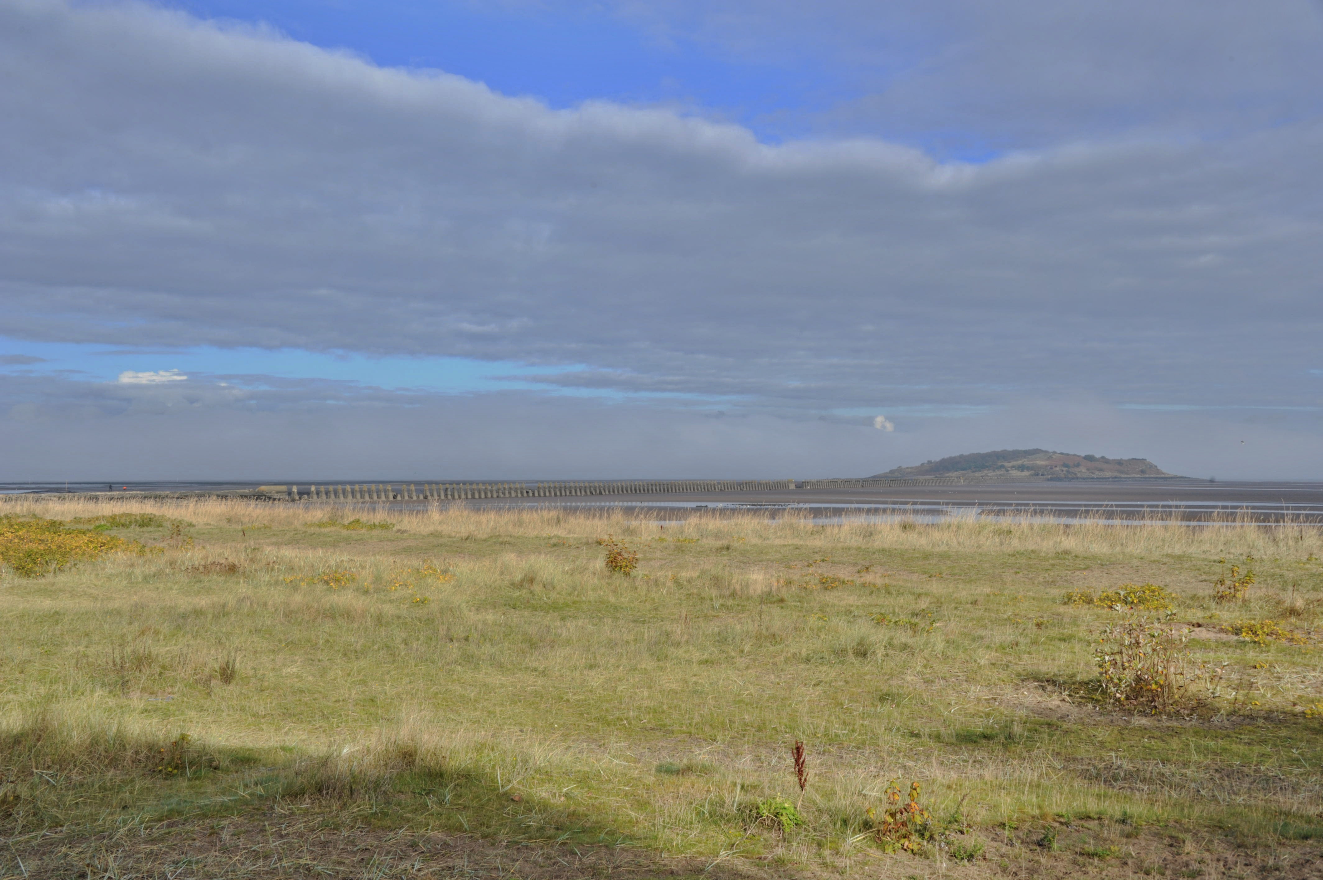
<svg viewBox="0 0 1323 880">
<path fill-rule="evenodd" d="M 875 478 L 914 476 L 1048 476 L 1107 479 L 1118 476 L 1171 476 L 1147 458 L 1074 455 L 1045 449 L 999 449 L 992 453 L 949 455 L 913 467 L 893 467 Z"/>
</svg>

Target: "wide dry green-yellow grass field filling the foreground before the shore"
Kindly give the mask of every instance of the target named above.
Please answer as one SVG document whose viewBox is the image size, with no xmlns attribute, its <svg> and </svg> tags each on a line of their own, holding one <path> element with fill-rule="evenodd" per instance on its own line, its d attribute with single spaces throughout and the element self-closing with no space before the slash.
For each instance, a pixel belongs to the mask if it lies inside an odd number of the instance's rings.
<svg viewBox="0 0 1323 880">
<path fill-rule="evenodd" d="M 1320 875 L 1318 527 L 0 516 L 0 877 Z M 1064 601 L 1125 584 L 1171 711 Z"/>
</svg>

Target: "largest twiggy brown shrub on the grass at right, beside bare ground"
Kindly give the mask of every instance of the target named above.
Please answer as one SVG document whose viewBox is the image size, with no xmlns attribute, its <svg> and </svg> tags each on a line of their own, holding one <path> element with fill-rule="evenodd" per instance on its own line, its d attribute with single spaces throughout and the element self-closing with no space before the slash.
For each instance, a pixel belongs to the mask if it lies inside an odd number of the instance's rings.
<svg viewBox="0 0 1323 880">
<path fill-rule="evenodd" d="M 1164 621 L 1129 617 L 1102 627 L 1094 660 L 1106 699 L 1150 713 L 1189 700 L 1189 634 Z"/>
</svg>

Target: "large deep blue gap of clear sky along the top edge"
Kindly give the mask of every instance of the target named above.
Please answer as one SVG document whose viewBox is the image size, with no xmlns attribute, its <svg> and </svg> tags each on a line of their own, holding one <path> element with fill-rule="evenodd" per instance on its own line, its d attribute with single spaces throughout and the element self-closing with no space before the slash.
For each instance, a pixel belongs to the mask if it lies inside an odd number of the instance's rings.
<svg viewBox="0 0 1323 880">
<path fill-rule="evenodd" d="M 736 119 L 759 136 L 812 134 L 800 118 L 848 94 L 828 58 L 733 57 L 683 32 L 658 33 L 593 4 L 180 3 L 208 19 L 265 22 L 295 40 L 382 66 L 446 70 L 552 107 L 585 101 L 673 103 Z"/>
</svg>

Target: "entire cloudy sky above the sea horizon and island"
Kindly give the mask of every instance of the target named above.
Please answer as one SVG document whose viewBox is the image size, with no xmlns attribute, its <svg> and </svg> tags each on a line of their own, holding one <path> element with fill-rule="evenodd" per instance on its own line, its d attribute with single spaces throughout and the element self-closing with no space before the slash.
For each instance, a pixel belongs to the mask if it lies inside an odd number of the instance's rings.
<svg viewBox="0 0 1323 880">
<path fill-rule="evenodd" d="M 1323 479 L 1319 0 L 0 0 L 0 482 Z"/>
</svg>

